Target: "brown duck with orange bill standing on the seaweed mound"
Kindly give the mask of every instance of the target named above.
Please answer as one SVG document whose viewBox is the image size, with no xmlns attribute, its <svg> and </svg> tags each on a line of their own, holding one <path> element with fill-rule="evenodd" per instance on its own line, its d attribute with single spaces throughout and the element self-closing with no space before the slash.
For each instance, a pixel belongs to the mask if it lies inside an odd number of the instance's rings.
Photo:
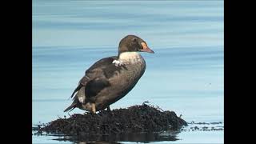
<svg viewBox="0 0 256 144">
<path fill-rule="evenodd" d="M 142 38 L 122 38 L 117 56 L 102 58 L 86 70 L 70 96 L 73 102 L 64 112 L 74 108 L 93 114 L 110 110 L 110 105 L 126 96 L 144 74 L 146 61 L 140 52 L 154 54 Z"/>
</svg>

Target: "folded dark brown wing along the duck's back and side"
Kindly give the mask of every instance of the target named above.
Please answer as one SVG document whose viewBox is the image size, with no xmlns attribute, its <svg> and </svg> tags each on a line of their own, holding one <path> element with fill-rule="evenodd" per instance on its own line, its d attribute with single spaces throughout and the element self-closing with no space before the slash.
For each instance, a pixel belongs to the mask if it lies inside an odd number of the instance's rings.
<svg viewBox="0 0 256 144">
<path fill-rule="evenodd" d="M 107 86 L 110 86 L 109 78 L 114 75 L 115 71 L 121 70 L 119 66 L 115 66 L 112 63 L 117 59 L 118 57 L 116 56 L 102 58 L 98 62 L 95 62 L 94 65 L 90 66 L 90 68 L 86 70 L 85 76 L 81 78 L 78 82 L 78 86 L 71 94 L 72 98 L 77 92 L 73 98 L 74 102 L 64 111 L 73 110 L 75 107 L 78 107 L 78 105 L 81 105 L 86 97 L 93 97 Z"/>
</svg>

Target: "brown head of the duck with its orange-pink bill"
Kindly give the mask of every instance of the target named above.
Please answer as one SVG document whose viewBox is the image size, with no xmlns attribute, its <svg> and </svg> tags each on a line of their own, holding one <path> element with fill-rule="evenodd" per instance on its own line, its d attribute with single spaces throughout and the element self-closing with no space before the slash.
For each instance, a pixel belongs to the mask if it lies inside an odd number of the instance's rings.
<svg viewBox="0 0 256 144">
<path fill-rule="evenodd" d="M 146 45 L 146 42 L 142 38 L 138 38 L 135 35 L 127 35 L 119 42 L 118 55 L 123 52 L 148 52 L 154 53 L 153 50 Z"/>
</svg>

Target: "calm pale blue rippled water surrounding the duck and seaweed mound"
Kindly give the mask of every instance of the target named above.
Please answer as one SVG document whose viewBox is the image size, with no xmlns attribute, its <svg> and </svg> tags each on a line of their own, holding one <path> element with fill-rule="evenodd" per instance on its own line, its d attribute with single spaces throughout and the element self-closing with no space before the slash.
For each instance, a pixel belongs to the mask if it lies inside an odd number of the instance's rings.
<svg viewBox="0 0 256 144">
<path fill-rule="evenodd" d="M 148 100 L 186 122 L 224 121 L 223 1 L 33 0 L 32 18 L 33 125 L 67 115 L 67 98 L 85 70 L 116 55 L 127 34 L 144 39 L 155 54 L 142 54 L 145 74 L 111 109 Z M 223 143 L 223 130 L 177 137 L 175 143 Z M 59 142 L 52 139 L 33 136 L 34 143 Z"/>
</svg>

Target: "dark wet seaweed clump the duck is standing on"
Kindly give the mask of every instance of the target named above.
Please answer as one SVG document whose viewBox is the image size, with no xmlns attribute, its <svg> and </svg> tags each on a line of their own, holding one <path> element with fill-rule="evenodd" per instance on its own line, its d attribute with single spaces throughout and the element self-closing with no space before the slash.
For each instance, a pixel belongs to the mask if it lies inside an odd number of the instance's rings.
<svg viewBox="0 0 256 144">
<path fill-rule="evenodd" d="M 186 121 L 179 118 L 174 111 L 163 111 L 158 106 L 143 103 L 126 109 L 103 110 L 98 114 L 73 114 L 70 118 L 58 118 L 38 128 L 38 131 L 97 136 L 180 130 L 182 126 L 187 126 Z"/>
</svg>

